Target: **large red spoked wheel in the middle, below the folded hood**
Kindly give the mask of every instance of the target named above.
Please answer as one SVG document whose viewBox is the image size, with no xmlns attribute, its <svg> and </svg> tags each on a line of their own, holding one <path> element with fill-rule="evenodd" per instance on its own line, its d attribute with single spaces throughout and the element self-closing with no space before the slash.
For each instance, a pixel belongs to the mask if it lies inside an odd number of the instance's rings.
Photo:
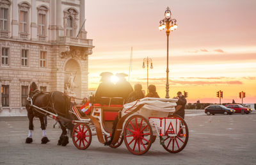
<svg viewBox="0 0 256 165">
<path fill-rule="evenodd" d="M 124 126 L 124 143 L 131 153 L 135 155 L 146 153 L 152 141 L 152 128 L 146 118 L 134 115 L 127 120 Z"/>
</svg>

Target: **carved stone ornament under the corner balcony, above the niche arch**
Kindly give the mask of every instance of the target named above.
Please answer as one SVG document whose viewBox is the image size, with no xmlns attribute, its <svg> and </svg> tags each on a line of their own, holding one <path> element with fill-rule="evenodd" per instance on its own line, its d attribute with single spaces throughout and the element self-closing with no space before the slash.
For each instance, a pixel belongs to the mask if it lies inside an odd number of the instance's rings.
<svg viewBox="0 0 256 165">
<path fill-rule="evenodd" d="M 80 49 L 79 48 L 76 48 L 76 49 L 70 48 L 70 51 L 61 52 L 60 58 L 71 57 L 71 58 L 80 58 L 80 59 L 85 60 L 86 56 L 88 55 L 87 52 L 88 52 L 87 50 L 84 50 L 81 48 Z"/>
</svg>

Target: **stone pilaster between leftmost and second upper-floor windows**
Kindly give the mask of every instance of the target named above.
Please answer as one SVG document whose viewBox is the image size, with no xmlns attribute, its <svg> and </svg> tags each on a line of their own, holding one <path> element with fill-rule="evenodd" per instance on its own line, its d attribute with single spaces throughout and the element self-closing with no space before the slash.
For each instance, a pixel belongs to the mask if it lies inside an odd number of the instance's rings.
<svg viewBox="0 0 256 165">
<path fill-rule="evenodd" d="M 17 0 L 12 1 L 12 38 L 19 38 L 19 10 Z"/>
</svg>

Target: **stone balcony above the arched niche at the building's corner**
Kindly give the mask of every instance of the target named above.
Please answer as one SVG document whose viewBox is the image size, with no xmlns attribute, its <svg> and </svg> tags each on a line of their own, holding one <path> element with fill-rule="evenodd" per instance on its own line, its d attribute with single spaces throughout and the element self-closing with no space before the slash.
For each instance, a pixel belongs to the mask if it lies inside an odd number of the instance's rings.
<svg viewBox="0 0 256 165">
<path fill-rule="evenodd" d="M 58 43 L 81 47 L 93 47 L 91 39 L 76 38 L 70 36 L 59 36 Z"/>
</svg>

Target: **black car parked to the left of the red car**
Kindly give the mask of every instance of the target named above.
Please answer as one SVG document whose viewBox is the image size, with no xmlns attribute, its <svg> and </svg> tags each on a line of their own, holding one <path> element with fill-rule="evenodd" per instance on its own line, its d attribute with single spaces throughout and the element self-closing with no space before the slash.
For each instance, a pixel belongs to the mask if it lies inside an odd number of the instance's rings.
<svg viewBox="0 0 256 165">
<path fill-rule="evenodd" d="M 207 115 L 210 114 L 233 114 L 235 113 L 234 109 L 230 109 L 228 107 L 222 106 L 222 105 L 212 105 L 212 106 L 208 106 L 205 107 L 204 112 Z"/>
</svg>

